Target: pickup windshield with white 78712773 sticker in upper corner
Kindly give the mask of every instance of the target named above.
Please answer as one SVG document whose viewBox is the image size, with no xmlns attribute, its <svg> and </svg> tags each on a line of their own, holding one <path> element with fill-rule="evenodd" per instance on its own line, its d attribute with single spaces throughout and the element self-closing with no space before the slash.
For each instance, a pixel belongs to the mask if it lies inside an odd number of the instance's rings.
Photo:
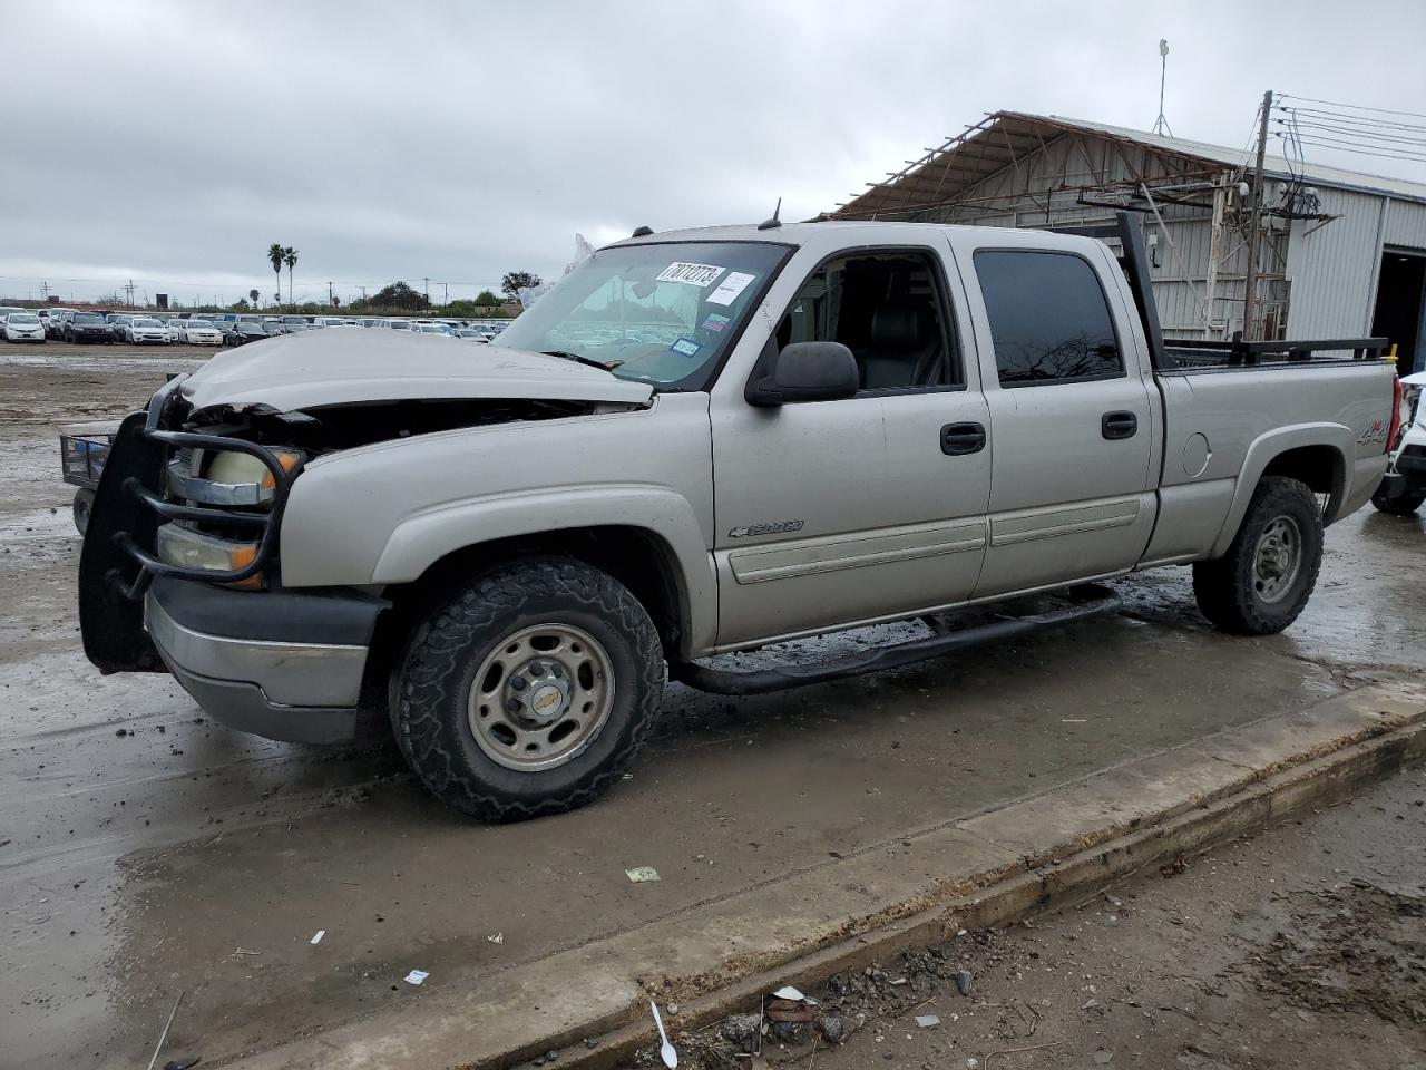
<svg viewBox="0 0 1426 1070">
<path fill-rule="evenodd" d="M 784 253 L 732 241 L 606 248 L 511 324 L 501 344 L 699 389 Z"/>
</svg>

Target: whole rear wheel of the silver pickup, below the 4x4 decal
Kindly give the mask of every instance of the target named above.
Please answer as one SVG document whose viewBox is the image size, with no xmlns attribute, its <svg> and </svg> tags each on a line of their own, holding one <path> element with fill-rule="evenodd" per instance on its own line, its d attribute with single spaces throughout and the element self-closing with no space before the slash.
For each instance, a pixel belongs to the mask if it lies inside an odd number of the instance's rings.
<svg viewBox="0 0 1426 1070">
<path fill-rule="evenodd" d="M 1258 484 L 1228 552 L 1194 565 L 1194 598 L 1215 626 L 1273 635 L 1298 619 L 1322 568 L 1322 515 L 1312 489 L 1283 477 Z"/>
</svg>

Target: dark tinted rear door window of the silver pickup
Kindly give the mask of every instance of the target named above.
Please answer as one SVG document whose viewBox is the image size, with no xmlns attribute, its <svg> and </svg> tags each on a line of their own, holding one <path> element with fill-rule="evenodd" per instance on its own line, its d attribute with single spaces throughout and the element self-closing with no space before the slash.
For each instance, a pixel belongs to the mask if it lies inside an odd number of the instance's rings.
<svg viewBox="0 0 1426 1070">
<path fill-rule="evenodd" d="M 1087 261 L 987 250 L 975 254 L 975 274 L 1002 387 L 1124 374 L 1109 305 Z"/>
</svg>

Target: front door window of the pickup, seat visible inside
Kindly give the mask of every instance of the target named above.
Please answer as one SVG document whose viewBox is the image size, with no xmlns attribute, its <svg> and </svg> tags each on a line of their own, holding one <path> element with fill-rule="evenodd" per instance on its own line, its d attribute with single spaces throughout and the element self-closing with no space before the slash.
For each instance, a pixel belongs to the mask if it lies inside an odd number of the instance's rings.
<svg viewBox="0 0 1426 1070">
<path fill-rule="evenodd" d="M 799 288 L 777 345 L 841 342 L 857 358 L 863 389 L 960 384 L 937 278 L 914 250 L 829 260 Z"/>
</svg>

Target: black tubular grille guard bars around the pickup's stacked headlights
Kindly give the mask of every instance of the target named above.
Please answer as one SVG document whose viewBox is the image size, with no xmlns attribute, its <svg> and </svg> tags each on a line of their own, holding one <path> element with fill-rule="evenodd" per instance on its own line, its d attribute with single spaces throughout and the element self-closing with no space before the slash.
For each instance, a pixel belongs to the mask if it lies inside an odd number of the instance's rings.
<svg viewBox="0 0 1426 1070">
<path fill-rule="evenodd" d="M 167 431 L 163 428 L 165 417 L 170 415 L 175 402 L 175 389 L 185 377 L 170 381 L 158 391 L 148 404 L 145 414 L 134 414 L 116 435 L 114 464 L 120 469 L 114 472 L 120 478 L 118 489 L 124 495 L 124 505 L 117 509 L 120 516 L 131 516 L 133 524 L 120 524 L 110 534 L 113 545 L 121 549 L 133 562 L 138 565 L 138 574 L 125 576 L 123 569 L 110 569 L 108 581 L 118 586 L 124 598 L 137 601 L 143 598 L 154 576 L 173 576 L 178 579 L 201 579 L 210 584 L 238 584 L 250 579 L 272 559 L 277 549 L 278 526 L 282 519 L 282 509 L 287 505 L 288 491 L 292 479 L 301 471 L 301 465 L 285 469 L 278 458 L 267 447 L 258 442 L 248 442 L 242 438 L 227 435 L 207 435 L 194 431 Z M 140 419 L 143 421 L 140 424 Z M 130 424 L 130 421 L 134 421 Z M 127 459 L 125 439 L 148 447 L 137 449 L 134 461 Z M 202 449 L 234 451 L 247 454 L 262 462 L 272 475 L 272 495 L 270 508 L 261 512 L 241 512 L 231 508 L 211 508 L 202 505 L 185 505 L 171 501 L 168 492 L 168 464 L 177 451 Z M 133 469 L 133 471 L 128 471 Z M 133 508 L 137 505 L 138 508 Z M 96 509 L 96 515 L 101 515 Z M 250 529 L 257 541 L 257 556 L 242 568 L 217 571 L 174 565 L 160 561 L 157 556 L 155 532 L 161 522 L 183 521 L 190 524 L 205 524 L 221 528 Z"/>
</svg>

